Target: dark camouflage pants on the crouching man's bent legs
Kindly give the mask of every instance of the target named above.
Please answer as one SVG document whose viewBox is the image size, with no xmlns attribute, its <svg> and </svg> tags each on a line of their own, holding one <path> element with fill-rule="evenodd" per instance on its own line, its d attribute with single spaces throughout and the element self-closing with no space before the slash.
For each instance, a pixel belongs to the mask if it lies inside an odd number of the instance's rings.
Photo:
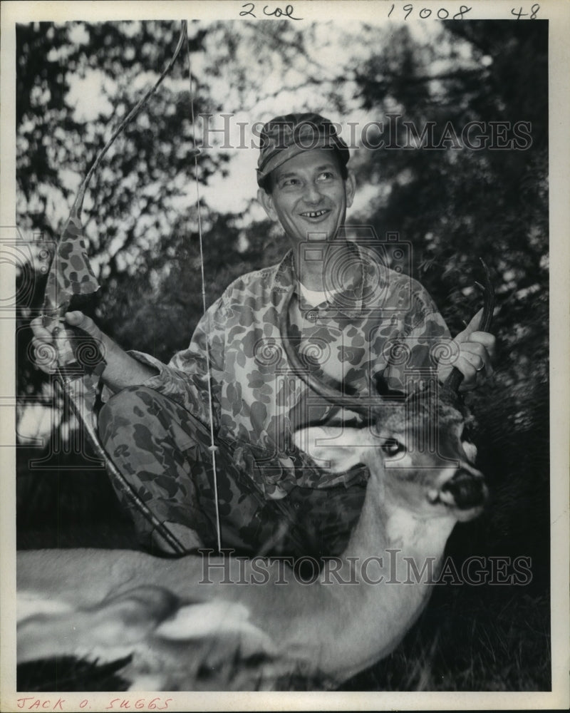
<svg viewBox="0 0 570 713">
<path fill-rule="evenodd" d="M 183 533 L 196 533 L 203 545 L 215 548 L 209 429 L 167 396 L 135 386 L 115 394 L 103 406 L 99 430 L 113 463 L 157 518 L 180 525 Z M 316 558 L 343 551 L 360 514 L 366 486 L 294 487 L 281 500 L 267 499 L 234 462 L 232 443 L 218 439 L 216 445 L 223 548 L 249 555 Z M 141 543 L 150 549 L 156 545 L 167 549 L 118 483 L 113 482 L 113 487 L 133 518 Z M 176 527 L 173 531 L 177 533 Z M 192 536 L 187 548 L 192 548 Z"/>
</svg>

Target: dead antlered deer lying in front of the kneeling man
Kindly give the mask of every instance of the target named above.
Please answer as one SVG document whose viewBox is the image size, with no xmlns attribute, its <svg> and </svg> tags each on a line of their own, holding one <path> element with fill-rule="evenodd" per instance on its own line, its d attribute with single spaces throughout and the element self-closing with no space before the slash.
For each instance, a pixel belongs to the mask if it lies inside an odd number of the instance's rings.
<svg viewBox="0 0 570 713">
<path fill-rule="evenodd" d="M 482 329 L 492 311 L 486 270 Z M 299 378 L 338 404 L 338 391 L 315 379 L 290 340 L 284 345 Z M 299 676 L 332 689 L 382 660 L 424 610 L 455 524 L 475 518 L 487 501 L 461 379 L 454 369 L 445 384 L 409 394 L 344 397 L 362 423 L 296 432 L 296 445 L 333 471 L 365 465 L 370 473 L 346 549 L 309 582 L 279 560 L 223 553 L 19 553 L 18 662 L 125 656 L 130 689 L 189 690 L 200 685 L 200 666 L 232 660 L 244 662 L 223 684 L 233 689 L 290 688 Z M 434 448 L 420 446 L 427 433 Z"/>
</svg>

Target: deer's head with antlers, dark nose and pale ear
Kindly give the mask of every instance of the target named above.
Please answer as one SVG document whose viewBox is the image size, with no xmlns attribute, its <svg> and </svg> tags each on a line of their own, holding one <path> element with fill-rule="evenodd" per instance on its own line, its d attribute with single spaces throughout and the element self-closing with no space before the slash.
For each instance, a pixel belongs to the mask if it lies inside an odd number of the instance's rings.
<svg viewBox="0 0 570 713">
<path fill-rule="evenodd" d="M 484 310 L 480 329 L 488 331 L 494 307 L 489 270 L 484 265 Z M 291 294 L 292 297 L 292 294 Z M 289 297 L 289 301 L 291 300 Z M 377 381 L 373 399 L 346 397 L 316 379 L 289 337 L 289 302 L 281 316 L 284 349 L 296 376 L 333 405 L 342 403 L 361 417 L 362 426 L 332 423 L 296 432 L 295 442 L 317 462 L 336 472 L 358 463 L 371 478 L 381 473 L 383 498 L 418 516 L 470 520 L 487 499 L 482 473 L 475 468 L 477 448 L 470 441 L 472 416 L 459 394 L 462 374 L 453 369 L 445 384 L 420 381 L 410 393 Z"/>
</svg>

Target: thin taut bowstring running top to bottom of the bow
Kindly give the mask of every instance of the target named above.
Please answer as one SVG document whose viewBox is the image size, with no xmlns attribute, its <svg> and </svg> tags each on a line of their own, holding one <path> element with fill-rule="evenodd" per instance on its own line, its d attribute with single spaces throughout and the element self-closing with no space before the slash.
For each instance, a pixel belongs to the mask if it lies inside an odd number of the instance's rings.
<svg viewBox="0 0 570 713">
<path fill-rule="evenodd" d="M 183 21 L 183 25 L 187 28 L 187 22 Z M 188 60 L 188 76 L 190 78 L 190 120 L 192 122 L 192 142 L 194 147 L 196 147 L 196 124 L 194 118 L 194 91 L 192 85 L 192 61 L 190 59 L 190 40 L 188 39 L 188 33 L 185 31 L 186 36 L 186 54 Z M 209 438 L 210 446 L 209 451 L 212 454 L 212 470 L 214 475 L 214 506 L 216 513 L 216 535 L 217 535 L 217 548 L 218 553 L 222 550 L 222 533 L 221 525 L 219 520 L 219 501 L 218 501 L 218 482 L 217 482 L 217 466 L 216 466 L 216 451 L 217 446 L 214 440 L 214 402 L 212 399 L 212 371 L 209 359 L 209 329 L 208 322 L 209 317 L 206 309 L 206 279 L 204 274 L 204 246 L 202 242 L 202 214 L 200 211 L 200 188 L 199 188 L 199 165 L 198 165 L 198 155 L 199 151 L 194 153 L 194 175 L 195 175 L 195 185 L 196 185 L 196 207 L 197 207 L 197 222 L 198 222 L 198 243 L 199 243 L 199 254 L 200 254 L 200 275 L 202 280 L 202 312 L 204 314 L 204 336 L 206 341 L 206 375 L 208 384 L 208 406 L 209 406 Z"/>
</svg>

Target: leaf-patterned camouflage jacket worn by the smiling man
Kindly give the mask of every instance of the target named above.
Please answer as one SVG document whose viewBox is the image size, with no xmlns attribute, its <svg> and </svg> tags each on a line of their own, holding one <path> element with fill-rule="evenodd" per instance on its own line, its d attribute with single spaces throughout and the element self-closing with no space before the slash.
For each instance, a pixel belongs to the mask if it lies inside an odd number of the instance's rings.
<svg viewBox="0 0 570 713">
<path fill-rule="evenodd" d="M 295 347 L 318 362 L 317 375 L 336 386 L 349 384 L 360 394 L 376 393 L 377 374 L 397 388 L 418 369 L 435 369 L 437 344 L 449 338 L 425 289 L 388 270 L 374 255 L 358 260 L 361 279 L 354 285 L 343 285 L 315 307 L 297 297 L 289 315 Z M 190 347 L 167 366 L 131 352 L 159 371 L 145 386 L 208 423 L 208 349 L 214 429 L 234 444 L 236 461 L 261 481 L 268 498 L 280 498 L 295 485 L 348 486 L 351 479 L 365 477 L 315 468 L 309 456 L 291 446 L 296 428 L 338 411 L 292 373 L 282 347 L 279 316 L 297 284 L 289 252 L 278 265 L 230 284 L 199 322 Z"/>
</svg>

